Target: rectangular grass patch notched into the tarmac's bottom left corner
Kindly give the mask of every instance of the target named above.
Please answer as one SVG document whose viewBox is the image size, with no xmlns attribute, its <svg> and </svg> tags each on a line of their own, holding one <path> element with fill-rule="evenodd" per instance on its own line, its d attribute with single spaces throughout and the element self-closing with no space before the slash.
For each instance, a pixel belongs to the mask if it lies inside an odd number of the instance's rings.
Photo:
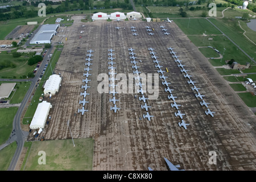
<svg viewBox="0 0 256 182">
<path fill-rule="evenodd" d="M 93 139 L 44 140 L 32 142 L 23 171 L 92 171 Z M 39 164 L 39 151 L 46 152 L 46 164 Z"/>
</svg>

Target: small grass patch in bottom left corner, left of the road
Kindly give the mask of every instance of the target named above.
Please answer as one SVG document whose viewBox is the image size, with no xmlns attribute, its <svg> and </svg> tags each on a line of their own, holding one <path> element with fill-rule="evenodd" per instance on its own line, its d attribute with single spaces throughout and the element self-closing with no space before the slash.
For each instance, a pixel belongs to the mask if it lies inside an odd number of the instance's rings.
<svg viewBox="0 0 256 182">
<path fill-rule="evenodd" d="M 16 142 L 13 142 L 9 144 L 9 146 L 0 150 L 0 171 L 7 171 L 11 160 L 13 159 L 16 148 L 17 144 Z"/>
</svg>

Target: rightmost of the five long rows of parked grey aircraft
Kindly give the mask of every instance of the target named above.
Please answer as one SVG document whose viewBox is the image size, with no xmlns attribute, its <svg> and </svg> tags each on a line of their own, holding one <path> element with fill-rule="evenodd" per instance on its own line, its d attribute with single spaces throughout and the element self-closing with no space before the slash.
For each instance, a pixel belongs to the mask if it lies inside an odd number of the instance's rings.
<svg viewBox="0 0 256 182">
<path fill-rule="evenodd" d="M 173 48 L 169 47 L 168 50 L 170 50 L 170 54 L 171 54 L 172 57 L 174 58 L 174 61 L 177 63 L 177 66 L 178 66 L 179 68 L 182 68 L 182 69 L 180 69 L 180 72 L 181 72 L 181 73 L 185 73 L 183 76 L 184 76 L 185 78 L 188 78 L 188 79 L 189 79 L 189 80 L 188 80 L 188 84 L 192 84 L 192 85 L 193 85 L 191 89 L 196 92 L 196 94 L 195 94 L 196 98 L 200 98 L 200 99 L 202 100 L 202 101 L 200 102 L 200 105 L 207 107 L 207 110 L 205 111 L 205 114 L 207 114 L 207 115 L 210 114 L 210 115 L 213 117 L 213 116 L 214 116 L 213 114 L 214 114 L 215 112 L 210 111 L 210 109 L 208 108 L 208 104 L 209 104 L 209 103 L 207 103 L 207 102 L 204 101 L 203 97 L 205 97 L 205 96 L 202 95 L 202 94 L 200 94 L 200 92 L 199 92 L 200 88 L 197 88 L 197 87 L 195 86 L 195 82 L 196 82 L 196 81 L 192 81 L 192 80 L 191 80 L 191 77 L 192 77 L 192 76 L 191 76 L 191 75 L 188 75 L 188 70 L 186 70 L 186 69 L 184 68 L 185 65 L 181 64 L 182 60 L 179 60 L 179 59 L 178 59 L 179 56 L 176 55 L 176 52 L 174 52 L 174 49 L 173 49 Z"/>
</svg>

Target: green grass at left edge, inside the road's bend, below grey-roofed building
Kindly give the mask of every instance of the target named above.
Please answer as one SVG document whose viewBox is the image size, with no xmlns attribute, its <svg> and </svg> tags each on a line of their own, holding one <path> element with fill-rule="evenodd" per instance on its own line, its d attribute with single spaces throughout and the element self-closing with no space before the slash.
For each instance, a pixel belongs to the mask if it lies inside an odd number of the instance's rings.
<svg viewBox="0 0 256 182">
<path fill-rule="evenodd" d="M 0 145 L 10 137 L 17 111 L 18 107 L 0 108 Z"/>
</svg>

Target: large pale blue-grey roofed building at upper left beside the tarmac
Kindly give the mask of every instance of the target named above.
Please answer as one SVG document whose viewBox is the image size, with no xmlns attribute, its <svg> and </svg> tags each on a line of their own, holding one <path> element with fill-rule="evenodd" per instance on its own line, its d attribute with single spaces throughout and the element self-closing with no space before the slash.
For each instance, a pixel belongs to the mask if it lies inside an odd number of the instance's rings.
<svg viewBox="0 0 256 182">
<path fill-rule="evenodd" d="M 30 44 L 51 44 L 51 38 L 56 34 L 60 24 L 44 24 L 36 33 Z"/>
</svg>

